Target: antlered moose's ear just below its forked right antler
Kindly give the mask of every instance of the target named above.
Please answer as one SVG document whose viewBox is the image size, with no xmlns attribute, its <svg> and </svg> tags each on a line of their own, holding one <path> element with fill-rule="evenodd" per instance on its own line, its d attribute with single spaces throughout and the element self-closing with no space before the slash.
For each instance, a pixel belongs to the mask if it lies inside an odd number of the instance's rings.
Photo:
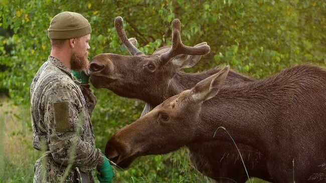
<svg viewBox="0 0 326 183">
<path fill-rule="evenodd" d="M 194 47 L 201 47 L 207 45 L 206 42 L 200 43 Z M 179 55 L 172 60 L 172 63 L 179 67 L 179 69 L 191 68 L 197 64 L 202 58 L 202 55 Z"/>
</svg>

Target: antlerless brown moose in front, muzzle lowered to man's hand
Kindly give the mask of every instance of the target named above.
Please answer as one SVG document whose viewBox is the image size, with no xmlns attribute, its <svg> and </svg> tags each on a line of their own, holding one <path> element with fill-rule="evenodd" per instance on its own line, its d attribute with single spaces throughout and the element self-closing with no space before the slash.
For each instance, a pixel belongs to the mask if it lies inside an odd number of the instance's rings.
<svg viewBox="0 0 326 183">
<path fill-rule="evenodd" d="M 228 72 L 226 67 L 120 129 L 105 154 L 126 167 L 138 156 L 229 140 L 216 132 L 223 126 L 235 141 L 267 156 L 275 182 L 326 181 L 326 72 L 299 65 L 224 86 Z"/>
</svg>

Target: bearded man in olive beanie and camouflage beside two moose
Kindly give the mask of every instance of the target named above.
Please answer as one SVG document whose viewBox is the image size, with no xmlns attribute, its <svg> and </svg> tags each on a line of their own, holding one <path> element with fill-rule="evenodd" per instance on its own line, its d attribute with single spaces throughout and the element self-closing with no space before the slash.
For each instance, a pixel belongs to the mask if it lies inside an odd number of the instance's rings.
<svg viewBox="0 0 326 183">
<path fill-rule="evenodd" d="M 87 69 L 91 32 L 73 12 L 50 23 L 51 54 L 31 85 L 33 147 L 45 151 L 35 163 L 34 182 L 94 182 L 95 168 L 100 182 L 112 180 L 108 159 L 95 148 L 90 114 L 96 99 L 71 72 Z"/>
</svg>

